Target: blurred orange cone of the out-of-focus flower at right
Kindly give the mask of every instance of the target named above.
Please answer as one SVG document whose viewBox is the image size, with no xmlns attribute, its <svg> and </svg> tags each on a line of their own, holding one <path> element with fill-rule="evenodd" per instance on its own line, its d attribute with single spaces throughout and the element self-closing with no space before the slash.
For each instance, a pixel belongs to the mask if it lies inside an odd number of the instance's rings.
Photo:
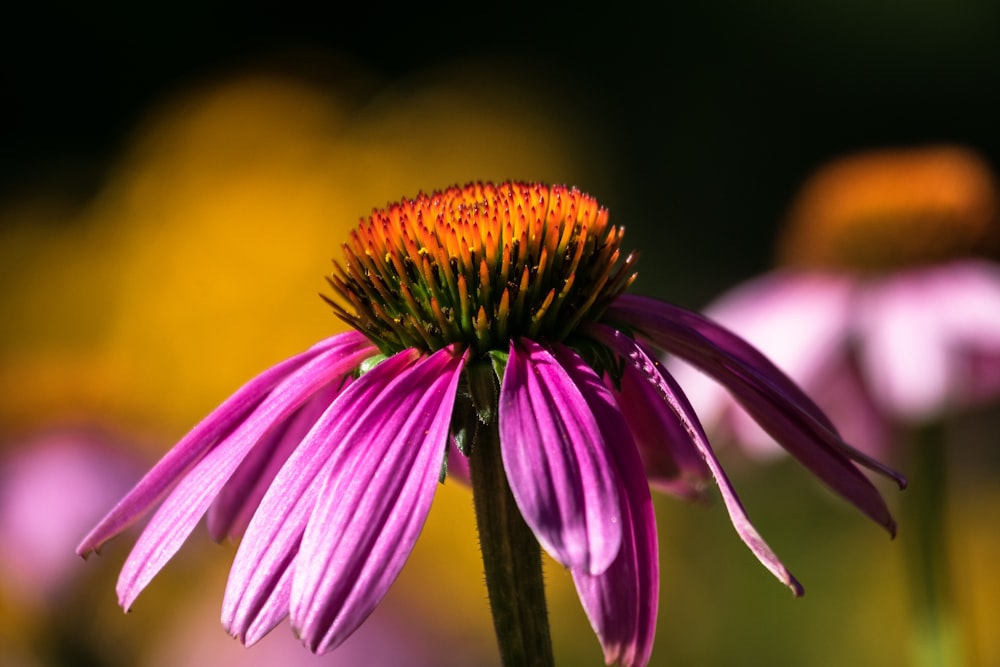
<svg viewBox="0 0 1000 667">
<path fill-rule="evenodd" d="M 892 271 L 989 256 L 1000 247 L 990 168 L 966 149 L 864 153 L 820 170 L 793 205 L 781 263 Z"/>
</svg>

